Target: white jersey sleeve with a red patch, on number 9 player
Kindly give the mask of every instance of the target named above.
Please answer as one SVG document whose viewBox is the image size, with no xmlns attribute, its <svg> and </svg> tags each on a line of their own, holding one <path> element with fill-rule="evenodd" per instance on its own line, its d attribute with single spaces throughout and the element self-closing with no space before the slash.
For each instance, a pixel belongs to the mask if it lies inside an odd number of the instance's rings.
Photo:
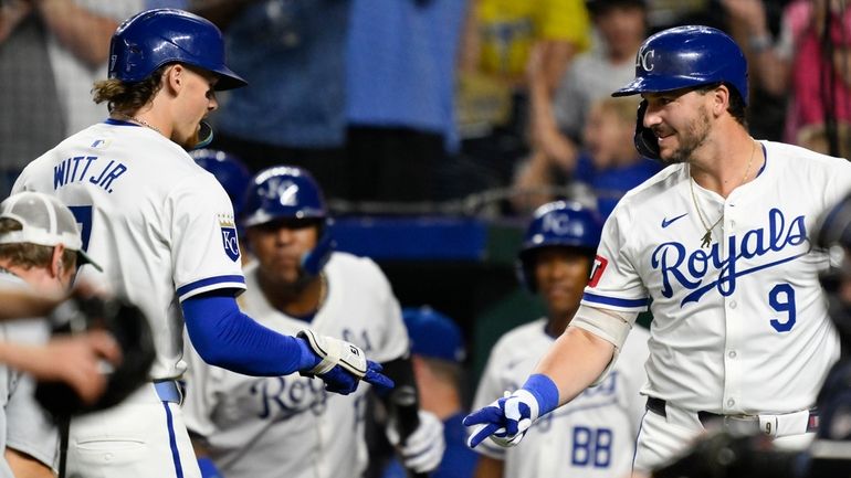
<svg viewBox="0 0 851 478">
<path fill-rule="evenodd" d="M 624 312 L 648 308 L 648 290 L 630 257 L 630 211 L 618 206 L 606 221 L 582 305 Z"/>
</svg>

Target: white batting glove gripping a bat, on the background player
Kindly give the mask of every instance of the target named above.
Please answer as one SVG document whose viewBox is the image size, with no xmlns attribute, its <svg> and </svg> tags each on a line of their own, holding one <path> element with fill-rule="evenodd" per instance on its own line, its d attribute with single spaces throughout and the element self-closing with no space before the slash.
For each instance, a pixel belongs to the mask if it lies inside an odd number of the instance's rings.
<svg viewBox="0 0 851 478">
<path fill-rule="evenodd" d="M 399 449 L 402 465 L 413 472 L 426 474 L 440 466 L 446 442 L 443 438 L 443 423 L 433 413 L 419 411 L 420 426 L 399 444 L 399 432 L 395 422 L 387 427 L 387 439 Z"/>
</svg>

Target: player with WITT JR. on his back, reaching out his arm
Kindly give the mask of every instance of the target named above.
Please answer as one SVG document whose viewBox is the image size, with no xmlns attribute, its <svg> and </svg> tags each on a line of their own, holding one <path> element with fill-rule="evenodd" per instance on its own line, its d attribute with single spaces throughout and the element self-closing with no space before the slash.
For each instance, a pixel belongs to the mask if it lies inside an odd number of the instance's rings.
<svg viewBox="0 0 851 478">
<path fill-rule="evenodd" d="M 181 10 L 149 10 L 124 22 L 109 49 L 109 78 L 94 87 L 109 118 L 34 160 L 13 188 L 70 206 L 83 247 L 104 268 L 87 277 L 138 304 L 154 331 L 150 385 L 71 421 L 69 474 L 200 477 L 176 382 L 187 367 L 185 323 L 200 355 L 229 370 L 300 371 L 339 393 L 360 380 L 391 385 L 355 346 L 309 331 L 280 334 L 237 305 L 245 280 L 233 210 L 186 151 L 209 139 L 202 119 L 218 107 L 216 92 L 245 85 L 224 64 L 219 29 Z"/>
</svg>

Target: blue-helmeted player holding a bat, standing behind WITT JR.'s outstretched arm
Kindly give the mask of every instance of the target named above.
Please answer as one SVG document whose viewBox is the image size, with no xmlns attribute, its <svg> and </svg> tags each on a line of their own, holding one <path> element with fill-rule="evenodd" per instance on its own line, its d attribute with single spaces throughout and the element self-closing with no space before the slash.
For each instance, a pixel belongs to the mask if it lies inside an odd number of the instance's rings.
<svg viewBox="0 0 851 478">
<path fill-rule="evenodd" d="M 243 205 L 256 256 L 245 268 L 243 310 L 282 333 L 309 327 L 343 338 L 384 363 L 397 384 L 412 380 L 399 376 L 403 364 L 412 372 L 390 284 L 372 261 L 333 251 L 327 208 L 309 173 L 295 167 L 261 171 Z M 366 469 L 369 387 L 333 396 L 313 379 L 253 378 L 207 365 L 193 351 L 188 357 L 187 427 L 222 476 L 335 478 Z M 413 406 L 416 413 L 416 401 Z M 421 412 L 420 418 L 406 446 L 426 460 L 411 468 L 428 471 L 440 463 L 442 426 L 432 414 Z"/>
</svg>

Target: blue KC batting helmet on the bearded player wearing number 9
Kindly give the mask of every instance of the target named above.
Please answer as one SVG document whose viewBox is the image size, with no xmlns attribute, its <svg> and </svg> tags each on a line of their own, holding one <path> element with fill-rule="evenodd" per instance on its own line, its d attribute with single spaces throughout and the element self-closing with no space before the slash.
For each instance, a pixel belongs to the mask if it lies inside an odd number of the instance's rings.
<svg viewBox="0 0 851 478">
<path fill-rule="evenodd" d="M 635 78 L 612 96 L 660 93 L 725 82 L 747 104 L 747 62 L 721 30 L 686 25 L 663 30 L 641 44 Z"/>
</svg>

